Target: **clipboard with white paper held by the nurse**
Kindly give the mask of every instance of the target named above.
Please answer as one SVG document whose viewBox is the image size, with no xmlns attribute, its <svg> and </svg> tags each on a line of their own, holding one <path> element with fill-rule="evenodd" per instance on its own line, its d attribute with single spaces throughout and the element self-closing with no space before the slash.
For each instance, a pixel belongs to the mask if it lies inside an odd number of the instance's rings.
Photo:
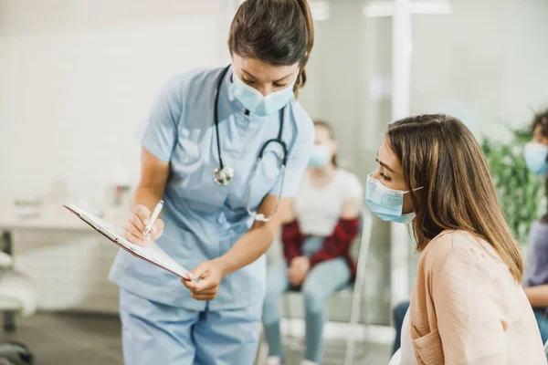
<svg viewBox="0 0 548 365">
<path fill-rule="evenodd" d="M 63 204 L 63 206 L 67 208 L 70 213 L 78 216 L 79 219 L 89 224 L 91 228 L 107 237 L 109 241 L 115 245 L 118 245 L 124 251 L 148 263 L 161 267 L 176 276 L 188 280 L 188 270 L 177 263 L 170 255 L 167 255 L 159 245 L 153 243 L 152 245 L 147 245 L 144 247 L 141 245 L 132 244 L 130 241 L 125 239 L 124 231 L 120 227 L 110 224 L 102 220 L 100 217 L 80 209 L 74 203 Z"/>
</svg>

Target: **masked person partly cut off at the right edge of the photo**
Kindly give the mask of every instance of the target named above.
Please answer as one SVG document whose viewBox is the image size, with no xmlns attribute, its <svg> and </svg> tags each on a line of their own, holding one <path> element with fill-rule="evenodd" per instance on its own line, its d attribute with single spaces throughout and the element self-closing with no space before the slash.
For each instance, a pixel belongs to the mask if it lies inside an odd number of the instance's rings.
<svg viewBox="0 0 548 365">
<path fill-rule="evenodd" d="M 548 193 L 548 110 L 535 116 L 532 141 L 525 145 L 525 163 L 535 174 L 543 175 Z M 532 224 L 529 232 L 527 270 L 523 290 L 534 310 L 543 337 L 548 340 L 548 213 Z"/>
</svg>

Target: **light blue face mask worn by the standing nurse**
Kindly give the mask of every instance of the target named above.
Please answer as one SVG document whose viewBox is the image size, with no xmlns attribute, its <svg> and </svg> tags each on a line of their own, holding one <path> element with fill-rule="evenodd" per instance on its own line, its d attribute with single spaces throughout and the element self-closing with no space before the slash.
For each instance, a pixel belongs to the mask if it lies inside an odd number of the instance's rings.
<svg viewBox="0 0 548 365">
<path fill-rule="evenodd" d="M 293 85 L 295 80 L 285 89 L 274 91 L 264 97 L 258 89 L 249 86 L 244 81 L 239 79 L 236 73 L 232 74 L 232 92 L 244 108 L 252 114 L 257 114 L 260 117 L 266 117 L 269 114 L 275 113 L 285 107 L 291 99 L 295 98 L 293 94 Z"/>
</svg>

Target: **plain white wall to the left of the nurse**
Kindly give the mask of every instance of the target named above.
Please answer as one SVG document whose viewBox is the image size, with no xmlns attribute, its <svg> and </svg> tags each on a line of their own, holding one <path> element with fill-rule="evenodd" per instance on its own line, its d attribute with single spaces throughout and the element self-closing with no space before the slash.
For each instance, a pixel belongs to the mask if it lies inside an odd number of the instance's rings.
<svg viewBox="0 0 548 365">
<path fill-rule="evenodd" d="M 136 182 L 157 89 L 227 62 L 224 3 L 0 0 L 0 199 L 62 180 L 100 200 L 118 164 Z"/>
</svg>

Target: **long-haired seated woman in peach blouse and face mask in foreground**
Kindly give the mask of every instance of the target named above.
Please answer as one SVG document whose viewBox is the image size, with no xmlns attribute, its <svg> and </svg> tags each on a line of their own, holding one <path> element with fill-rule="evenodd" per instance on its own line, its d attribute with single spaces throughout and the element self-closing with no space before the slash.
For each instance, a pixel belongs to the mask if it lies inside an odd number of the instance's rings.
<svg viewBox="0 0 548 365">
<path fill-rule="evenodd" d="M 441 114 L 398 120 L 377 162 L 366 202 L 385 221 L 413 224 L 421 253 L 391 365 L 546 364 L 522 255 L 468 128 Z"/>
</svg>

